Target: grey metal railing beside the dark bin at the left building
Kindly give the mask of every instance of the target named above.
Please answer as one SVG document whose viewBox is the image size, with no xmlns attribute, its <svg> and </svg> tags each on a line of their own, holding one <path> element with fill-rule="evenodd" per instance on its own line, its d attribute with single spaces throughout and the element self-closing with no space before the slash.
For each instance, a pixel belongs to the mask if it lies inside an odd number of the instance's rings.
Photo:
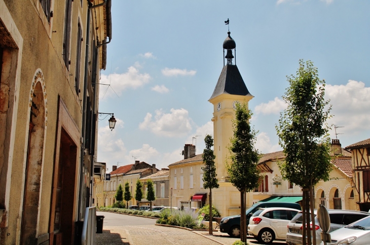
<svg viewBox="0 0 370 245">
<path fill-rule="evenodd" d="M 84 226 L 82 228 L 81 244 L 95 244 L 96 233 L 96 207 L 86 207 Z"/>
</svg>

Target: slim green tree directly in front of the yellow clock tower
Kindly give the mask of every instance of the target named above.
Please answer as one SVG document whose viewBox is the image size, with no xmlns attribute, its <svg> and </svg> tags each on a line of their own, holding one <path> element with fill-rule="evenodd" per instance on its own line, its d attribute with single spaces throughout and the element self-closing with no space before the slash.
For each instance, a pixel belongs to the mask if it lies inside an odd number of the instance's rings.
<svg viewBox="0 0 370 245">
<path fill-rule="evenodd" d="M 243 242 L 247 241 L 246 192 L 257 187 L 259 179 L 256 165 L 259 155 L 254 149 L 256 131 L 249 124 L 251 116 L 247 103 L 236 104 L 235 120 L 233 120 L 234 136 L 229 146 L 231 163 L 226 166 L 230 182 L 240 191 L 240 240 Z"/>
</svg>

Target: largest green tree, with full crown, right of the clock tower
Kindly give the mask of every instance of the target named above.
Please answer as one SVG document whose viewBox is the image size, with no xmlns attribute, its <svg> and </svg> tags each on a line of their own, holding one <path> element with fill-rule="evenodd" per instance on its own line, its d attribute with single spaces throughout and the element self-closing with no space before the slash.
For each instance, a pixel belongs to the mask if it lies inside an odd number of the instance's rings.
<svg viewBox="0 0 370 245">
<path fill-rule="evenodd" d="M 283 179 L 302 187 L 303 244 L 306 234 L 310 234 L 310 209 L 313 219 L 313 187 L 319 180 L 329 180 L 330 137 L 326 120 L 330 118 L 331 106 L 324 99 L 325 81 L 318 77 L 317 68 L 311 61 L 300 60 L 297 75 L 287 77 L 287 88 L 284 101 L 287 109 L 280 114 L 276 125 L 279 144 L 283 148 L 285 161 L 279 164 Z M 325 107 L 327 109 L 325 109 Z M 310 205 L 312 203 L 312 205 Z M 313 232 L 313 244 L 316 244 Z M 311 236 L 307 236 L 307 244 L 311 245 Z"/>
</svg>

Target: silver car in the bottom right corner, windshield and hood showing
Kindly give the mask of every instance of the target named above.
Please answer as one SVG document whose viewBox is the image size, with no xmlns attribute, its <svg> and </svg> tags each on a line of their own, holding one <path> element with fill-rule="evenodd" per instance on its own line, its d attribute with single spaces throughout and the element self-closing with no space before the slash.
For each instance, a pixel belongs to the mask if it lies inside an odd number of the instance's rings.
<svg viewBox="0 0 370 245">
<path fill-rule="evenodd" d="M 367 216 L 350 225 L 330 233 L 327 245 L 368 245 L 370 243 L 370 217 Z M 320 243 L 324 244 L 323 242 Z"/>
</svg>

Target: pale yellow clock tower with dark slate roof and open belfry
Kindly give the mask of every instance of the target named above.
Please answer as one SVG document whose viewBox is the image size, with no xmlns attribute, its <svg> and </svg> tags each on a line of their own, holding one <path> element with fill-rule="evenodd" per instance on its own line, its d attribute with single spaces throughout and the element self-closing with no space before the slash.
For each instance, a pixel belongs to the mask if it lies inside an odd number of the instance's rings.
<svg viewBox="0 0 370 245">
<path fill-rule="evenodd" d="M 223 213 L 223 216 L 227 216 L 233 215 L 234 211 L 231 211 L 233 207 L 238 208 L 240 206 L 239 191 L 228 181 L 225 166 L 226 162 L 230 162 L 227 156 L 230 155 L 228 149 L 230 138 L 234 135 L 232 120 L 235 119 L 235 105 L 236 103 L 248 103 L 253 96 L 245 86 L 236 66 L 236 59 L 235 64 L 233 63 L 234 54 L 236 56 L 236 44 L 230 37 L 230 31 L 224 41 L 223 48 L 224 55 L 225 50 L 227 50 L 225 56 L 227 64 L 225 65 L 224 59 L 224 67 L 208 101 L 213 104 L 214 154 L 216 156 L 217 179 L 220 185 L 219 189 L 215 189 L 215 201 L 213 203 Z M 238 213 L 240 214 L 240 209 L 236 214 Z"/>
</svg>

